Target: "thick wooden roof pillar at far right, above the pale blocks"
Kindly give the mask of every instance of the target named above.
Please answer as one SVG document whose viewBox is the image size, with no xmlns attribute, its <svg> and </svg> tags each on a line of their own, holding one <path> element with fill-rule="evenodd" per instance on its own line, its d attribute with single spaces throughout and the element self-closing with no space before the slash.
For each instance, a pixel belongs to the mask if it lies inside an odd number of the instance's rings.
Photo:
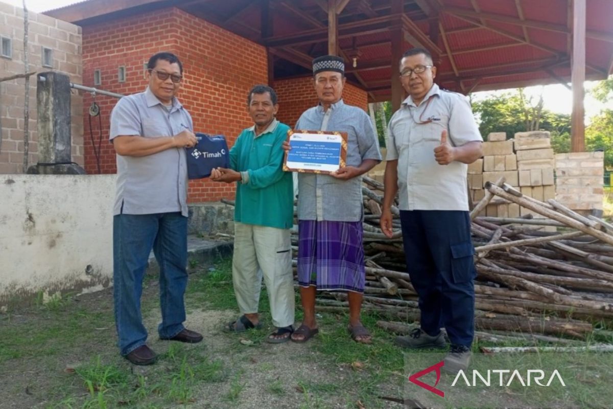
<svg viewBox="0 0 613 409">
<path fill-rule="evenodd" d="M 571 114 L 571 151 L 585 150 L 585 0 L 573 0 L 573 58 L 571 59 L 573 113 Z"/>
</svg>

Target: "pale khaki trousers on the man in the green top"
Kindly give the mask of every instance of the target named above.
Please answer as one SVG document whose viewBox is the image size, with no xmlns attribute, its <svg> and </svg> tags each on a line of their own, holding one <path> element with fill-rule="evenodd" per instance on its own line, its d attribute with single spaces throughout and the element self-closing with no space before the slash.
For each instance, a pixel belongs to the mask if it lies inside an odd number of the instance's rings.
<svg viewBox="0 0 613 409">
<path fill-rule="evenodd" d="M 294 275 L 289 229 L 234 223 L 232 281 L 242 314 L 257 313 L 262 276 L 276 327 L 294 324 Z"/>
</svg>

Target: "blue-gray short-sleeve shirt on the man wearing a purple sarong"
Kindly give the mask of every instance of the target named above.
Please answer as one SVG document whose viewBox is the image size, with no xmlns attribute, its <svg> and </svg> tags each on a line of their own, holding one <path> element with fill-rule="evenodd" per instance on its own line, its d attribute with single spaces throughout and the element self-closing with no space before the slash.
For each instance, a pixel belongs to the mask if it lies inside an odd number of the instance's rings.
<svg viewBox="0 0 613 409">
<path fill-rule="evenodd" d="M 381 160 L 370 117 L 364 110 L 346 105 L 342 99 L 326 112 L 321 105 L 306 110 L 296 129 L 347 132 L 348 166 L 360 166 L 364 159 Z M 362 220 L 362 177 L 340 180 L 329 175 L 301 173 L 298 185 L 299 220 Z"/>
</svg>

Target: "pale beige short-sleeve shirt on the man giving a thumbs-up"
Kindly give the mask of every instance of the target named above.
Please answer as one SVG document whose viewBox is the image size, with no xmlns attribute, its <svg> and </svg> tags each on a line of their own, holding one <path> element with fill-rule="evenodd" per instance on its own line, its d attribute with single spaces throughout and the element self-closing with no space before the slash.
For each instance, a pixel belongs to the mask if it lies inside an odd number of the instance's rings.
<svg viewBox="0 0 613 409">
<path fill-rule="evenodd" d="M 401 210 L 468 210 L 467 165 L 443 166 L 434 158 L 443 129 L 454 147 L 483 140 L 466 97 L 436 84 L 419 106 L 409 96 L 392 115 L 386 159 L 398 159 Z"/>
</svg>

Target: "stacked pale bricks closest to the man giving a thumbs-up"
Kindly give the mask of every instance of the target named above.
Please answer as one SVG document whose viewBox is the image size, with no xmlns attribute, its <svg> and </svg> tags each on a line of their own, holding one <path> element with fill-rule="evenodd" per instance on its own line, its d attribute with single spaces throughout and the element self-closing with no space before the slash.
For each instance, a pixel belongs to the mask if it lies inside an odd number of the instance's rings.
<svg viewBox="0 0 613 409">
<path fill-rule="evenodd" d="M 483 187 L 486 182 L 496 182 L 501 176 L 509 185 L 519 190 L 517 173 L 517 156 L 513 152 L 513 141 L 506 140 L 506 132 L 492 132 L 487 136 L 487 142 L 482 145 L 482 175 L 480 180 L 472 175 L 470 184 L 473 201 L 478 202 L 484 196 Z M 479 161 L 477 161 L 479 162 Z M 476 162 L 475 162 L 476 163 Z M 478 164 L 476 166 L 479 166 Z M 476 171 L 473 167 L 473 171 Z M 469 177 L 470 178 L 470 177 Z M 477 190 L 479 189 L 479 190 Z M 509 203 L 501 198 L 495 198 L 492 204 L 485 207 L 485 215 L 493 217 L 519 217 L 519 205 Z"/>
</svg>

